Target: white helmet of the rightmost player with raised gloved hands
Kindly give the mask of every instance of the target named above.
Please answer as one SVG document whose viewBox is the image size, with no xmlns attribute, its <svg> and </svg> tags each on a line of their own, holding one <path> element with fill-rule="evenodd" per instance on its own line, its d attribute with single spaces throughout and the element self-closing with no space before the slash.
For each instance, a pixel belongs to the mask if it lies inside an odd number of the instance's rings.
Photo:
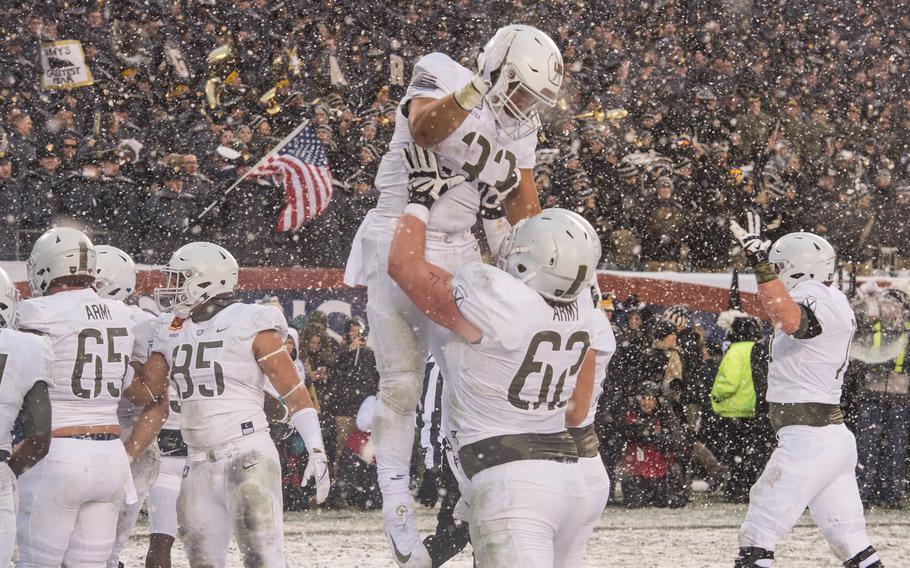
<svg viewBox="0 0 910 568">
<path fill-rule="evenodd" d="M 768 261 L 787 290 L 804 280 L 832 281 L 836 258 L 834 247 L 814 233 L 784 235 L 768 251 Z"/>
</svg>

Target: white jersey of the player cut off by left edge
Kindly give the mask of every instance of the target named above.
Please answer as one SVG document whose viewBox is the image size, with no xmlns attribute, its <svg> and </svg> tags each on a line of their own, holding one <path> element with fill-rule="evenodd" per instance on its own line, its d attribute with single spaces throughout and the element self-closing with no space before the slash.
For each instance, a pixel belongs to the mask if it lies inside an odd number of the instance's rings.
<svg viewBox="0 0 910 568">
<path fill-rule="evenodd" d="M 53 384 L 54 356 L 46 337 L 0 329 L 0 450 L 13 451 L 12 430 L 35 383 Z"/>
</svg>

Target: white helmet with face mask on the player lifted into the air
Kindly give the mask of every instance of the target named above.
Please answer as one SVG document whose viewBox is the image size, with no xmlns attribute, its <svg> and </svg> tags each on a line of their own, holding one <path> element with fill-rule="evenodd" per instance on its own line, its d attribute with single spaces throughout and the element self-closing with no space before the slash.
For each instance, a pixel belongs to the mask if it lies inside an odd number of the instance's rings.
<svg viewBox="0 0 910 568">
<path fill-rule="evenodd" d="M 513 139 L 532 134 L 540 127 L 540 112 L 556 106 L 562 87 L 562 53 L 550 36 L 531 26 L 508 25 L 496 31 L 477 57 L 483 69 L 486 55 L 502 42 L 508 52 L 484 100 L 496 123 Z"/>
</svg>

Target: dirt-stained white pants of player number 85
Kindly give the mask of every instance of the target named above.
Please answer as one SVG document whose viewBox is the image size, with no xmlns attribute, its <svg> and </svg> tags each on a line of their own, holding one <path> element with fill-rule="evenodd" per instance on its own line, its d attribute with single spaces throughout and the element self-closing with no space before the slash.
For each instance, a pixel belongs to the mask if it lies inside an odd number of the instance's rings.
<svg viewBox="0 0 910 568">
<path fill-rule="evenodd" d="M 177 533 L 192 568 L 227 566 L 231 535 L 244 566 L 284 568 L 281 463 L 269 433 L 189 450 Z"/>
</svg>

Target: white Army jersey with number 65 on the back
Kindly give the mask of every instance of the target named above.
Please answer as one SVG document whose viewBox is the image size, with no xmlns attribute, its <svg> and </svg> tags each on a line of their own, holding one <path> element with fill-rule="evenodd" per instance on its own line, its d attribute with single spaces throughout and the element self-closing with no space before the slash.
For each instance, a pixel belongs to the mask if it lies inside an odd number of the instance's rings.
<svg viewBox="0 0 910 568">
<path fill-rule="evenodd" d="M 46 335 L 54 353 L 54 429 L 117 425 L 117 403 L 135 344 L 126 304 L 91 288 L 19 303 L 19 327 Z"/>
</svg>

